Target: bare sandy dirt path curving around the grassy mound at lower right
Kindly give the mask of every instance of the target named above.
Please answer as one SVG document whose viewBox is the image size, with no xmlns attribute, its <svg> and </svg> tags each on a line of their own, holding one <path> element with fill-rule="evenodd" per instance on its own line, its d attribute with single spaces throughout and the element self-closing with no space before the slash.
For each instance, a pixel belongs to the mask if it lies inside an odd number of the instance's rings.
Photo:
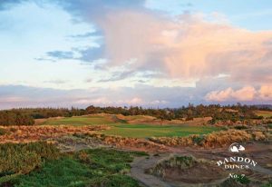
<svg viewBox="0 0 272 187">
<path fill-rule="evenodd" d="M 250 148 L 250 149 L 249 149 Z M 263 154 L 262 150 L 266 150 L 266 153 Z M 196 158 L 202 158 L 209 161 L 218 161 L 219 159 L 222 159 L 224 157 L 228 157 L 231 155 L 231 153 L 228 153 L 226 149 L 213 149 L 213 150 L 205 150 L 205 149 L 193 149 L 193 148 L 183 148 L 183 149 L 176 149 L 171 148 L 171 153 L 160 153 L 160 156 L 154 156 L 151 155 L 149 158 L 141 157 L 136 158 L 134 162 L 131 163 L 131 176 L 144 184 L 145 186 L 150 187 L 196 187 L 196 186 L 215 186 L 216 184 L 219 184 L 221 182 L 224 182 L 226 178 L 216 180 L 209 183 L 184 183 L 184 182 L 165 182 L 162 181 L 159 177 L 153 176 L 151 174 L 146 173 L 145 171 L 149 168 L 152 168 L 156 165 L 156 163 L 170 158 L 173 154 L 175 155 L 192 155 Z M 258 154 L 255 152 L 257 151 Z M 257 155 L 261 158 L 266 158 L 267 155 L 271 150 L 269 149 L 269 144 L 253 144 L 248 145 L 248 153 L 245 155 L 248 155 L 249 158 L 253 155 Z M 257 158 L 255 158 L 257 159 Z M 257 162 L 261 162 L 263 159 L 257 159 Z M 267 160 L 266 162 L 269 162 Z M 257 164 L 256 167 L 252 167 L 251 170 L 254 172 L 252 175 L 250 174 L 249 177 L 254 177 L 256 175 L 272 175 L 272 170 L 267 169 L 263 167 L 263 164 Z M 261 179 L 260 179 L 261 180 Z"/>
</svg>

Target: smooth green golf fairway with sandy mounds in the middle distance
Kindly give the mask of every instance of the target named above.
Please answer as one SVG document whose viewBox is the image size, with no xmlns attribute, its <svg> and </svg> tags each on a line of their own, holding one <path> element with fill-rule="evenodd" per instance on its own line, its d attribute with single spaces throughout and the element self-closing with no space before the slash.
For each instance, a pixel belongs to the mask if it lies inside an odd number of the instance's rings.
<svg viewBox="0 0 272 187">
<path fill-rule="evenodd" d="M 121 135 L 123 137 L 146 138 L 151 136 L 187 136 L 189 134 L 205 134 L 220 130 L 212 126 L 197 126 L 188 124 L 152 124 L 154 119 L 149 116 L 119 117 L 118 115 L 97 114 L 80 117 L 49 119 L 44 125 L 97 125 L 106 124 L 110 130 L 103 133 Z M 138 122 L 138 123 L 137 123 Z M 139 123 L 142 122 L 142 123 Z"/>
</svg>

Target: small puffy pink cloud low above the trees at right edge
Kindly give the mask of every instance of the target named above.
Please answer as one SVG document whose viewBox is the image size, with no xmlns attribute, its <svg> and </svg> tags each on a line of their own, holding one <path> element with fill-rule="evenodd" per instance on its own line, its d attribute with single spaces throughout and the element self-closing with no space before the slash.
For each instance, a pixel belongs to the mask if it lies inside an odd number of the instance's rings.
<svg viewBox="0 0 272 187">
<path fill-rule="evenodd" d="M 245 86 L 238 90 L 228 87 L 222 91 L 213 91 L 205 96 L 207 101 L 226 102 L 226 101 L 272 101 L 272 86 L 263 85 L 256 90 L 252 86 Z"/>
</svg>

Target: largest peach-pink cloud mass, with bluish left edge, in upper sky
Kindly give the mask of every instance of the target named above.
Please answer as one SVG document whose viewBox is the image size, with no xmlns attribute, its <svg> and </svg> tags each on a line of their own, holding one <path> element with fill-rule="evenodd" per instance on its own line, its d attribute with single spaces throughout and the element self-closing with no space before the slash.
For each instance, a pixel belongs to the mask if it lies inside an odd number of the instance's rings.
<svg viewBox="0 0 272 187">
<path fill-rule="evenodd" d="M 225 16 L 222 22 L 219 13 L 184 13 L 173 18 L 144 8 L 144 1 L 59 2 L 102 31 L 102 54 L 110 67 L 134 59 L 129 71 L 152 70 L 170 78 L 197 80 L 228 74 L 241 84 L 272 81 L 271 31 L 252 32 L 230 25 Z M 100 12 L 92 11 L 93 3 Z"/>
</svg>

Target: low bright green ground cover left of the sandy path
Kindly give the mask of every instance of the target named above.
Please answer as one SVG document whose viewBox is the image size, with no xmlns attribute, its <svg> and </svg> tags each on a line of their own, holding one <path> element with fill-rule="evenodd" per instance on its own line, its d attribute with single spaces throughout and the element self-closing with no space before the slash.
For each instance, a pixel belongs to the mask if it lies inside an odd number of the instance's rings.
<svg viewBox="0 0 272 187">
<path fill-rule="evenodd" d="M 137 153 L 115 150 L 84 150 L 61 159 L 45 162 L 40 170 L 19 177 L 16 187 L 127 186 L 139 184 L 125 175 Z"/>
</svg>

